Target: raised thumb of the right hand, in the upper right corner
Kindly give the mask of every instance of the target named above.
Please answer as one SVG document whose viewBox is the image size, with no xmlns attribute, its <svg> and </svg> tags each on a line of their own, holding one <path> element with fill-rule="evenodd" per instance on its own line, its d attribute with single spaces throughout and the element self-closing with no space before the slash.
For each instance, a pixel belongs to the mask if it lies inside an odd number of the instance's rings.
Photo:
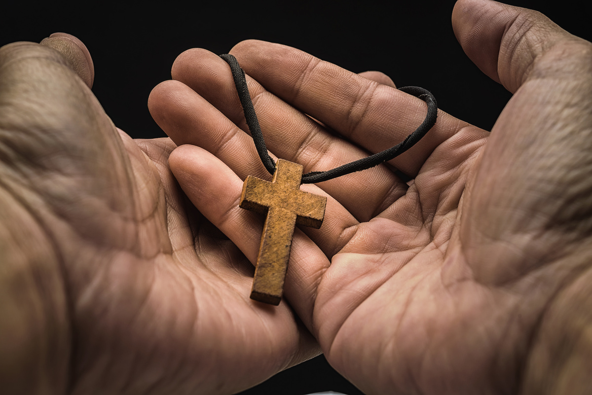
<svg viewBox="0 0 592 395">
<path fill-rule="evenodd" d="M 456 2 L 452 27 L 469 59 L 512 93 L 532 76 L 565 69 L 562 56 L 545 56 L 552 48 L 584 41 L 540 12 L 491 0 Z"/>
</svg>

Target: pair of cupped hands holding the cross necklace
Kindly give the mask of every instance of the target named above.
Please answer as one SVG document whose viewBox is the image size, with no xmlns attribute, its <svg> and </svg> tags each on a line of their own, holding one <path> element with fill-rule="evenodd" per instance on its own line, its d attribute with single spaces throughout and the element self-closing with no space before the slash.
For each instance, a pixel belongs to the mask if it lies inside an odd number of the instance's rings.
<svg viewBox="0 0 592 395">
<path fill-rule="evenodd" d="M 233 393 L 319 346 L 369 394 L 584 393 L 591 44 L 486 0 L 459 1 L 453 27 L 514 92 L 491 134 L 440 112 L 391 162 L 411 186 L 381 166 L 303 187 L 326 220 L 297 230 L 276 308 L 248 299 L 262 218 L 237 199 L 269 176 L 223 60 L 179 56 L 149 99 L 172 141 L 148 141 L 111 124 L 75 38 L 2 48 L 8 393 Z M 425 113 L 379 73 L 260 41 L 231 53 L 271 153 L 305 171 L 390 147 Z"/>
</svg>

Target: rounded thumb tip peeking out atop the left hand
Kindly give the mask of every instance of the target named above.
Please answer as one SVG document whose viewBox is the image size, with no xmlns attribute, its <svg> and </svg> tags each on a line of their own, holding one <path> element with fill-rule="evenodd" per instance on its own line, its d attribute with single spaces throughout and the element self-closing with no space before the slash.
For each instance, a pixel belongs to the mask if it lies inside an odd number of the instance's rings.
<svg viewBox="0 0 592 395">
<path fill-rule="evenodd" d="M 66 33 L 53 33 L 41 40 L 44 46 L 53 48 L 66 58 L 72 70 L 82 78 L 86 86 L 92 88 L 95 79 L 95 67 L 91 53 L 78 38 Z"/>
</svg>

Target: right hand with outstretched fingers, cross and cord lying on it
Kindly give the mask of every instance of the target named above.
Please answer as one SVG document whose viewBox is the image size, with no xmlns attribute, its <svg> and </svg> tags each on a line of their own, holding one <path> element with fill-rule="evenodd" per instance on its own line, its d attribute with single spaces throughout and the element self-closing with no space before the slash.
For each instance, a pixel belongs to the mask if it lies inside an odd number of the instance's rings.
<svg viewBox="0 0 592 395">
<path fill-rule="evenodd" d="M 452 23 L 513 98 L 491 134 L 440 111 L 390 163 L 410 186 L 390 166 L 303 186 L 327 196 L 326 219 L 295 234 L 287 299 L 368 394 L 590 393 L 592 44 L 489 0 L 460 0 Z M 269 151 L 305 172 L 391 147 L 425 114 L 419 99 L 294 48 L 249 40 L 231 53 Z M 179 145 L 170 169 L 255 261 L 262 218 L 236 203 L 248 174 L 270 176 L 229 67 L 193 49 L 172 76 L 149 99 Z"/>
</svg>

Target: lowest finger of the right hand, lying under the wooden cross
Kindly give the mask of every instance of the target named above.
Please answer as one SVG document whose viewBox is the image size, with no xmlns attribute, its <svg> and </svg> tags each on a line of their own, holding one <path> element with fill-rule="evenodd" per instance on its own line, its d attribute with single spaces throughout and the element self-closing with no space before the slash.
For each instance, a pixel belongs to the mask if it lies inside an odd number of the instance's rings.
<svg viewBox="0 0 592 395">
<path fill-rule="evenodd" d="M 242 180 L 220 159 L 194 145 L 176 148 L 169 165 L 195 207 L 255 263 L 263 218 L 239 208 Z M 284 294 L 311 332 L 316 286 L 327 267 L 329 260 L 314 242 L 294 232 Z"/>
</svg>

